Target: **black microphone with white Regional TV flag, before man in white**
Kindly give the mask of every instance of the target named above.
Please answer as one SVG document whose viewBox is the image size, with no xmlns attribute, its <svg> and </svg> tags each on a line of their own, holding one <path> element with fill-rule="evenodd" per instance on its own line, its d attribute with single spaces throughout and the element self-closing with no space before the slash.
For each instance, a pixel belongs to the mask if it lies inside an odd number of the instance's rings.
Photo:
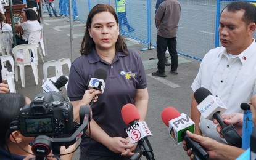
<svg viewBox="0 0 256 160">
<path fill-rule="evenodd" d="M 221 114 L 223 114 L 227 108 L 221 102 L 220 98 L 215 97 L 212 93 L 203 87 L 196 90 L 194 97 L 197 105 L 197 109 L 200 111 L 205 119 L 213 120 L 215 118 L 221 126 L 221 134 L 225 138 L 229 145 L 241 148 L 242 138 L 237 134 L 236 129 L 232 124 L 225 124 Z"/>
</svg>

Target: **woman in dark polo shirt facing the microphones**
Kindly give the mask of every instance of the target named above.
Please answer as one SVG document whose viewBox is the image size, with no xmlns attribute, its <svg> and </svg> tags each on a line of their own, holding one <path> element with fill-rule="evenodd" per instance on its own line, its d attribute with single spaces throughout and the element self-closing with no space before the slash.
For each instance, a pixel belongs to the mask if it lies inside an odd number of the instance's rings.
<svg viewBox="0 0 256 160">
<path fill-rule="evenodd" d="M 104 93 L 99 94 L 97 102 L 91 106 L 91 132 L 86 131 L 91 138 L 82 140 L 80 159 L 129 159 L 136 145 L 126 134 L 129 126 L 123 122 L 121 109 L 133 103 L 141 121 L 145 120 L 147 79 L 141 57 L 127 49 L 120 36 L 117 14 L 110 5 L 97 4 L 89 12 L 80 53 L 81 57 L 72 63 L 67 88 L 76 120 L 80 106 L 88 105 L 82 98 L 94 71 L 98 68 L 107 71 Z M 95 94 L 94 91 L 91 93 Z"/>
</svg>

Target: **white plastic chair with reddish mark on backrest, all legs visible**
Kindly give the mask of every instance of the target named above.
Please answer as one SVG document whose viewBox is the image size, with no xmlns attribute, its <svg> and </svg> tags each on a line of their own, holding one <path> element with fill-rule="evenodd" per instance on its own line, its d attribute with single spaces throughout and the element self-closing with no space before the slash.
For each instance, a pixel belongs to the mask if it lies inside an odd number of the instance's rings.
<svg viewBox="0 0 256 160">
<path fill-rule="evenodd" d="M 33 57 L 31 58 L 31 51 Z M 36 44 L 20 44 L 12 49 L 15 57 L 15 80 L 18 81 L 18 66 L 20 68 L 20 79 L 22 87 L 25 87 L 25 70 L 24 66 L 31 65 L 35 77 L 36 85 L 38 85 L 38 55 Z M 31 62 L 32 61 L 32 62 Z"/>
</svg>

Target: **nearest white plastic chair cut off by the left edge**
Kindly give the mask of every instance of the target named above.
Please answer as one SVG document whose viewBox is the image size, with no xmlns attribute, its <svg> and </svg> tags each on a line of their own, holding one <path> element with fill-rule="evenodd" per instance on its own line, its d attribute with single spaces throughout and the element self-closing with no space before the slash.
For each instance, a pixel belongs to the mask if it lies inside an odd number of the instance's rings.
<svg viewBox="0 0 256 160">
<path fill-rule="evenodd" d="M 11 72 L 4 71 L 5 73 L 3 73 L 4 76 L 2 76 L 2 78 L 7 81 L 8 85 L 9 85 L 10 92 L 16 93 L 15 82 L 14 82 L 14 74 L 15 74 L 14 73 L 14 58 L 12 58 L 11 55 L 2 55 L 2 56 L 0 56 L 0 59 L 1 59 L 2 68 L 4 68 L 3 67 L 4 62 L 6 62 L 6 61 L 9 61 L 10 65 L 12 66 L 12 71 Z"/>
</svg>

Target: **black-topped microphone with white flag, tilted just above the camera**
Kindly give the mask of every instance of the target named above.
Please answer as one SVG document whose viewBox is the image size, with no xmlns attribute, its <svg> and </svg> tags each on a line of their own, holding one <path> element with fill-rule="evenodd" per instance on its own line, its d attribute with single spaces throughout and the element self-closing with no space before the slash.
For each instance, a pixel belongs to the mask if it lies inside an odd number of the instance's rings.
<svg viewBox="0 0 256 160">
<path fill-rule="evenodd" d="M 44 89 L 44 91 L 46 93 L 48 92 L 59 92 L 62 89 L 60 89 L 61 87 L 65 86 L 65 84 L 68 82 L 68 78 L 66 76 L 60 76 L 56 82 L 53 82 L 51 79 L 47 79 L 46 82 L 44 82 L 44 84 L 42 85 L 42 88 Z"/>
</svg>

